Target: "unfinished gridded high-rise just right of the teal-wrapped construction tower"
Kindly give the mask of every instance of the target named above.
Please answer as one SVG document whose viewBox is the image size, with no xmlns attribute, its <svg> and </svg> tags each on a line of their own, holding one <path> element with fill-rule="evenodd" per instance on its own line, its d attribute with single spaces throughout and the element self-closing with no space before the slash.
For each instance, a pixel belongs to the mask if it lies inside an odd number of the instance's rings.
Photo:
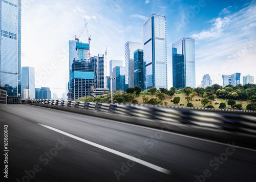
<svg viewBox="0 0 256 182">
<path fill-rule="evenodd" d="M 104 88 L 104 54 L 91 57 L 94 69 L 94 88 Z"/>
</svg>

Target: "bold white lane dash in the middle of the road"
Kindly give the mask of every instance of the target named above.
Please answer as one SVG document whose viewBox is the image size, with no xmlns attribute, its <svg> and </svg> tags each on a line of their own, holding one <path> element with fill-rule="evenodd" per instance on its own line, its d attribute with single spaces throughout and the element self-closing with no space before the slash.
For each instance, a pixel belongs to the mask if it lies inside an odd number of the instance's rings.
<svg viewBox="0 0 256 182">
<path fill-rule="evenodd" d="M 47 126 L 47 125 L 44 125 L 44 124 L 38 124 L 38 125 L 43 126 L 43 127 L 46 127 L 46 128 L 51 129 L 51 130 L 53 130 L 53 131 L 59 132 L 59 133 L 61 133 L 61 134 L 65 134 L 65 135 L 67 135 L 68 137 L 71 137 L 71 138 L 76 139 L 76 140 L 78 140 L 78 141 L 81 141 L 81 142 L 83 142 L 83 143 L 92 145 L 92 146 L 94 146 L 94 147 L 98 147 L 98 148 L 100 148 L 100 149 L 102 149 L 102 150 L 105 150 L 105 151 L 114 153 L 114 154 L 119 155 L 119 156 L 122 156 L 122 157 L 124 157 L 124 158 L 127 158 L 127 159 L 129 159 L 129 160 L 132 160 L 132 161 L 134 161 L 134 162 L 136 162 L 136 163 L 142 164 L 142 165 L 144 165 L 144 166 L 146 166 L 146 167 L 152 168 L 152 169 L 157 170 L 157 171 L 159 171 L 159 172 L 162 172 L 162 173 L 165 173 L 165 174 L 171 174 L 171 173 L 172 173 L 172 171 L 169 171 L 169 170 L 167 170 L 167 169 L 161 168 L 161 167 L 156 166 L 156 165 L 154 165 L 154 164 L 151 164 L 151 163 L 142 161 L 142 160 L 140 160 L 139 158 L 133 157 L 133 156 L 131 156 L 131 155 L 127 155 L 127 154 L 125 154 L 125 153 L 122 153 L 122 152 L 113 150 L 113 149 L 108 148 L 108 147 L 104 147 L 104 146 L 102 146 L 102 145 L 99 145 L 99 144 L 90 142 L 90 141 L 85 140 L 85 139 L 82 139 L 82 138 L 80 138 L 80 137 L 76 137 L 75 135 L 70 134 L 70 133 L 67 133 L 67 132 L 65 132 L 65 131 L 61 131 L 61 130 L 59 130 L 59 129 L 56 129 L 56 128 L 53 128 L 53 127 L 51 127 L 51 126 Z"/>
</svg>

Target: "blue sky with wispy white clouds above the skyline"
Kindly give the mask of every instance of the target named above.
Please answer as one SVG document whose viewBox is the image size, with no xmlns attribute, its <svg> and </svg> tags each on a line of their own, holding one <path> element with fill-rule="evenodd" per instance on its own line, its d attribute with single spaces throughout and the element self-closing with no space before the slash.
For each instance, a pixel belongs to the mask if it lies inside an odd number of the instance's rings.
<svg viewBox="0 0 256 182">
<path fill-rule="evenodd" d="M 123 60 L 127 41 L 143 41 L 143 22 L 166 16 L 168 88 L 173 86 L 172 44 L 195 38 L 196 86 L 209 74 L 250 74 L 256 80 L 256 1 L 220 0 L 22 0 L 22 66 L 35 68 L 35 86 L 50 87 L 61 98 L 69 81 L 68 42 L 79 36 L 84 19 L 91 55 Z M 87 31 L 80 40 L 88 43 Z"/>
</svg>

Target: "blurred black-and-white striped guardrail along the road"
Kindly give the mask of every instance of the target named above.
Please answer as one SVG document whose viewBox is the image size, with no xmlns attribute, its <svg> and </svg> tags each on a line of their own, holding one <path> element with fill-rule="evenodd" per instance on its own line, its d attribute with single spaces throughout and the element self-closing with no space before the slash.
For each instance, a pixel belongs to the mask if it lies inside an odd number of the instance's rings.
<svg viewBox="0 0 256 182">
<path fill-rule="evenodd" d="M 145 106 L 139 104 L 106 104 L 94 102 L 34 99 L 26 104 L 40 103 L 74 107 L 100 112 L 119 113 L 133 117 L 161 120 L 165 122 L 194 125 L 200 127 L 238 131 L 256 135 L 256 117 L 218 112 L 202 112 L 196 109 L 185 110 L 184 107 Z M 175 108 L 175 109 L 174 109 Z M 187 109 L 187 107 L 186 107 Z M 207 109 L 208 110 L 208 109 Z M 211 110 L 211 109 L 209 109 Z M 219 109 L 218 109 L 219 110 Z M 253 111 L 252 111 L 253 112 Z"/>
</svg>

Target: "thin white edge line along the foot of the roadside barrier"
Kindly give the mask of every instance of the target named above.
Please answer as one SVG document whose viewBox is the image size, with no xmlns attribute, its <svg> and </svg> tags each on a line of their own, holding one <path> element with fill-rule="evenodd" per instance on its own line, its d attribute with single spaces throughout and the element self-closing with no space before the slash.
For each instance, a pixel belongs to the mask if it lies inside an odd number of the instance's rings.
<svg viewBox="0 0 256 182">
<path fill-rule="evenodd" d="M 36 105 L 33 105 L 33 106 L 36 106 Z M 37 106 L 37 107 L 41 107 L 41 106 Z M 46 108 L 46 107 L 41 107 L 41 108 Z M 49 108 L 49 109 L 51 109 L 51 108 Z M 55 110 L 55 109 L 52 109 L 52 110 Z M 67 111 L 57 110 L 57 109 L 56 109 L 55 111 L 67 112 Z M 81 114 L 81 113 L 75 113 L 75 112 L 70 112 L 70 115 L 71 115 L 71 114 L 84 116 L 84 115 Z M 110 119 L 104 119 L 104 118 L 99 118 L 99 117 L 94 117 L 94 116 L 89 116 L 89 115 L 86 115 L 86 116 L 87 116 L 88 118 L 91 118 L 91 119 L 97 118 L 98 120 L 101 120 L 101 121 L 109 121 L 109 122 L 112 122 L 112 123 L 118 123 L 118 124 L 123 124 L 123 125 L 130 125 L 130 126 L 135 126 L 135 127 L 139 127 L 139 128 L 148 129 L 148 130 L 161 131 L 161 132 L 168 133 L 168 134 L 178 135 L 178 136 L 180 136 L 180 137 L 185 137 L 185 138 L 190 138 L 190 139 L 195 139 L 195 140 L 201 140 L 201 141 L 204 141 L 204 142 L 209 142 L 209 143 L 214 143 L 214 144 L 229 146 L 227 143 L 217 142 L 217 141 L 213 141 L 213 140 L 209 140 L 209 139 L 202 139 L 202 138 L 198 138 L 198 137 L 192 137 L 192 136 L 185 135 L 185 134 L 175 133 L 175 132 L 173 132 L 173 131 L 165 131 L 165 130 L 155 129 L 155 128 L 151 128 L 151 127 L 147 127 L 147 126 L 141 126 L 141 125 L 136 125 L 136 124 L 131 124 L 131 123 L 125 123 L 125 122 L 122 122 L 122 121 L 114 121 L 114 120 L 110 120 Z M 93 123 L 90 122 L 90 124 L 93 124 Z M 251 148 L 248 148 L 248 147 L 242 147 L 242 146 L 239 146 L 239 145 L 234 145 L 234 147 L 238 147 L 239 149 L 243 149 L 243 150 L 249 150 L 249 151 L 256 152 L 255 149 L 251 149 Z"/>
</svg>

